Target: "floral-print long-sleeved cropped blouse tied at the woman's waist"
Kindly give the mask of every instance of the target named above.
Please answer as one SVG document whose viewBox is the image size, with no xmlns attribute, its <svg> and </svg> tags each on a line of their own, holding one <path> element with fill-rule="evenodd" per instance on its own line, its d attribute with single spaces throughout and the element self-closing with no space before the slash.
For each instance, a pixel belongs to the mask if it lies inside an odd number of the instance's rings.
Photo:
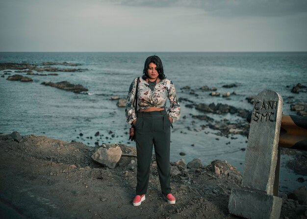
<svg viewBox="0 0 307 219">
<path fill-rule="evenodd" d="M 135 78 L 130 84 L 125 109 L 126 120 L 130 124 L 136 120 L 137 117 L 134 109 L 136 82 L 137 78 Z M 140 109 L 148 109 L 153 106 L 157 108 L 165 108 L 166 98 L 170 101 L 170 108 L 167 110 L 167 114 L 173 119 L 173 122 L 176 122 L 180 118 L 180 105 L 173 82 L 166 78 L 160 80 L 156 83 L 154 90 L 152 91 L 146 80 L 140 77 L 137 91 L 137 103 Z"/>
</svg>

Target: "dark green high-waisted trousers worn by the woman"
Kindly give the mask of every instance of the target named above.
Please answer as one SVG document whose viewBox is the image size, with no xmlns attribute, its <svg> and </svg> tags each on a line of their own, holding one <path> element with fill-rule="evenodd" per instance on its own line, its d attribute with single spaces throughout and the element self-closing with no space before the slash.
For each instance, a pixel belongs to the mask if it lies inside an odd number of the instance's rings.
<svg viewBox="0 0 307 219">
<path fill-rule="evenodd" d="M 153 145 L 159 173 L 161 191 L 171 193 L 170 138 L 173 127 L 165 110 L 138 112 L 135 127 L 137 151 L 136 195 L 147 193 Z"/>
</svg>

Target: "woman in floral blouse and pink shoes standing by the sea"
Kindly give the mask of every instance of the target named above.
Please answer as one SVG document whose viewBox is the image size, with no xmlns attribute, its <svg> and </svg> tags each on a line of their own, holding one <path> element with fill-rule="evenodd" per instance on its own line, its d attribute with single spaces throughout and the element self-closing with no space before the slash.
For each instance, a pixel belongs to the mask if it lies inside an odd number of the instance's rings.
<svg viewBox="0 0 307 219">
<path fill-rule="evenodd" d="M 126 104 L 126 118 L 134 125 L 137 150 L 137 186 L 132 203 L 139 206 L 145 200 L 154 145 L 163 198 L 175 204 L 170 185 L 170 127 L 180 117 L 175 87 L 166 79 L 162 61 L 156 55 L 146 59 L 143 76 L 139 78 L 137 99 L 140 109 L 137 112 L 134 109 L 136 84 L 137 78 L 130 85 Z M 170 101 L 167 112 L 166 98 Z"/>
</svg>

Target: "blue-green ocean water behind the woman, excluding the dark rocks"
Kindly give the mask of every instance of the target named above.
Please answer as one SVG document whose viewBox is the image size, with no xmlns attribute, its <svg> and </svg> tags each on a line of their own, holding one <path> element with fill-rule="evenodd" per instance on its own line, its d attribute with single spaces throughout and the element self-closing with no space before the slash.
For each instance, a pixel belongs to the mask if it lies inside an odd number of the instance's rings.
<svg viewBox="0 0 307 219">
<path fill-rule="evenodd" d="M 306 93 L 290 92 L 297 83 L 307 85 L 307 52 L 0 52 L 1 63 L 41 65 L 43 62 L 66 61 L 80 66 L 55 67 L 87 69 L 83 72 L 58 72 L 57 76 L 28 75 L 33 82 L 27 83 L 5 80 L 7 75 L 0 77 L 0 132 L 34 133 L 69 142 L 80 141 L 89 146 L 94 146 L 96 141 L 100 145 L 123 143 L 133 146 L 134 142 L 128 142 L 126 133 L 129 125 L 125 121 L 125 109 L 117 107 L 117 101 L 110 100 L 110 97 L 126 98 L 133 78 L 142 75 L 145 59 L 153 54 L 162 59 L 164 73 L 175 84 L 177 96 L 196 103 L 226 103 L 252 111 L 252 104 L 246 97 L 263 90 L 274 90 L 284 100 L 283 113 L 295 115 L 290 111 L 290 104 L 307 102 Z M 88 94 L 41 85 L 44 81 L 64 80 L 82 84 L 89 90 Z M 222 87 L 230 83 L 237 84 L 237 87 Z M 199 90 L 205 85 L 216 87 L 221 94 L 235 91 L 236 95 L 227 99 L 211 97 L 209 92 Z M 189 94 L 190 90 L 180 89 L 184 86 L 189 86 L 198 96 Z M 203 113 L 185 107 L 188 102 L 179 103 L 181 119 L 174 123 L 171 134 L 171 161 L 183 158 L 189 162 L 200 158 L 204 165 L 208 165 L 215 159 L 227 160 L 243 172 L 245 151 L 241 148 L 246 148 L 247 138 L 233 135 L 230 139 L 218 136 L 217 130 L 203 130 L 201 125 L 206 122 L 192 118 L 192 115 Z M 206 115 L 216 121 L 244 121 L 230 114 Z M 99 137 L 94 136 L 97 131 Z M 186 155 L 180 156 L 180 152 Z M 300 175 L 285 167 L 288 159 L 288 156 L 281 159 L 280 188 L 283 190 L 302 185 L 296 182 Z"/>
</svg>

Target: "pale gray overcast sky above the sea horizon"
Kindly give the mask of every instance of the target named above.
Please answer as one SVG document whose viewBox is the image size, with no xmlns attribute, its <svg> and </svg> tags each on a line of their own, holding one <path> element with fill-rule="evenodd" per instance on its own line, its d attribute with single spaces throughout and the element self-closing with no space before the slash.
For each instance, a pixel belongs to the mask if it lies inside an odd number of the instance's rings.
<svg viewBox="0 0 307 219">
<path fill-rule="evenodd" d="M 307 51 L 307 0 L 0 0 L 0 51 Z"/>
</svg>

